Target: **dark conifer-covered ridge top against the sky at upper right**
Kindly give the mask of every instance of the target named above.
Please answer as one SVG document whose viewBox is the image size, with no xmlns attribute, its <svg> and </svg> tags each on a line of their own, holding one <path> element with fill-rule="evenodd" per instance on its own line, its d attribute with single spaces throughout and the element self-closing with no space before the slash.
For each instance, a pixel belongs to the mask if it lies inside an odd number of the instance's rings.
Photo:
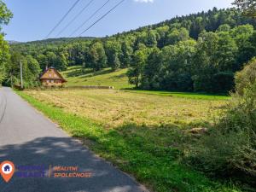
<svg viewBox="0 0 256 192">
<path fill-rule="evenodd" d="M 237 9 L 213 8 L 207 12 L 202 11 L 197 14 L 176 16 L 171 20 L 165 20 L 150 26 L 143 26 L 137 30 L 131 30 L 130 32 L 143 32 L 148 29 L 156 29 L 160 26 L 177 26 L 177 24 L 178 26 L 188 29 L 191 38 L 198 38 L 203 30 L 206 30 L 207 32 L 215 32 L 219 26 L 224 24 L 227 24 L 232 28 L 250 24 L 256 28 L 256 20 L 250 17 L 241 16 L 241 12 L 237 11 Z M 124 32 L 124 34 L 130 32 Z"/>
</svg>

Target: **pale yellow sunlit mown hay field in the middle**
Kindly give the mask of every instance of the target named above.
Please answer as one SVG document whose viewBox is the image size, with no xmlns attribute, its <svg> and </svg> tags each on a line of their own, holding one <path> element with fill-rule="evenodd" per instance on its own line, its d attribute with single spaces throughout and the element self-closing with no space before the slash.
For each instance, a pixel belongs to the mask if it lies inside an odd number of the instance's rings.
<svg viewBox="0 0 256 192">
<path fill-rule="evenodd" d="M 228 100 L 158 96 L 122 90 L 27 91 L 38 101 L 100 122 L 106 127 L 136 125 L 199 125 L 210 122 Z"/>
</svg>

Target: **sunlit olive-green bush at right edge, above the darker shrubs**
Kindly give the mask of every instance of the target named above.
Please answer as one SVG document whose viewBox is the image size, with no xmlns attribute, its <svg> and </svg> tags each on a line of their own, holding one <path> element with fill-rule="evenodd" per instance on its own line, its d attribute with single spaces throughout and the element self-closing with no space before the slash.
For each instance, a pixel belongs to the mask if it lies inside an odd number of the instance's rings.
<svg viewBox="0 0 256 192">
<path fill-rule="evenodd" d="M 236 91 L 243 95 L 243 90 L 256 82 L 256 57 L 254 57 L 241 72 L 236 73 Z"/>
</svg>

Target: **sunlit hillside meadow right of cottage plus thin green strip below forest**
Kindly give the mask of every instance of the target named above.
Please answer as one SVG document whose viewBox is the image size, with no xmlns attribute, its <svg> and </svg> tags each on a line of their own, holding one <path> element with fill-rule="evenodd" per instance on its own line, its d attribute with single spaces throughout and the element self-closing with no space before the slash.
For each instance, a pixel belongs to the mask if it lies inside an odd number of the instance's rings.
<svg viewBox="0 0 256 192">
<path fill-rule="evenodd" d="M 82 68 L 81 66 L 68 67 L 67 71 L 62 72 L 67 79 L 67 86 L 81 85 L 102 85 L 113 86 L 116 90 L 124 90 L 126 92 L 143 93 L 158 96 L 175 96 L 191 99 L 203 100 L 227 100 L 229 96 L 211 95 L 206 93 L 185 93 L 172 92 L 163 90 L 135 90 L 134 85 L 128 83 L 126 76 L 128 69 L 121 69 L 113 72 L 111 68 L 105 68 L 100 72 L 93 72 L 90 68 Z"/>
</svg>

